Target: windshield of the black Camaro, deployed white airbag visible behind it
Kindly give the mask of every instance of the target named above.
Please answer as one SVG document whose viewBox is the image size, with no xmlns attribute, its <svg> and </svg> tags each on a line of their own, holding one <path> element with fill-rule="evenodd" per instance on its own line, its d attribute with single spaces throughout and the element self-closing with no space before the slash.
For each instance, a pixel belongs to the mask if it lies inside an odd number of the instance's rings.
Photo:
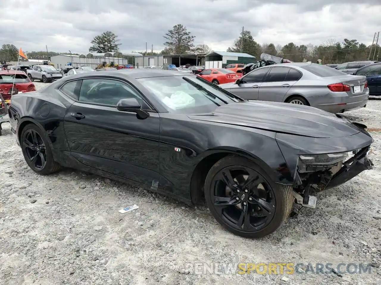
<svg viewBox="0 0 381 285">
<path fill-rule="evenodd" d="M 198 80 L 195 76 L 162 76 L 137 80 L 171 113 L 210 113 L 218 106 L 241 101 L 231 93 L 214 87 L 203 79 Z"/>
</svg>

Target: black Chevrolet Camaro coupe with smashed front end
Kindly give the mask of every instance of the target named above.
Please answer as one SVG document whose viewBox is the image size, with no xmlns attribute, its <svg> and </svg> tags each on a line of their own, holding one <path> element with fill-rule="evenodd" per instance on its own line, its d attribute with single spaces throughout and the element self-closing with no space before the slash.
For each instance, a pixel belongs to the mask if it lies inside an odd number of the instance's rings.
<svg viewBox="0 0 381 285">
<path fill-rule="evenodd" d="M 366 126 L 287 103 L 246 101 L 179 71 L 82 73 L 12 97 L 32 170 L 77 168 L 196 204 L 227 230 L 274 232 L 293 203 L 371 169 Z"/>
</svg>

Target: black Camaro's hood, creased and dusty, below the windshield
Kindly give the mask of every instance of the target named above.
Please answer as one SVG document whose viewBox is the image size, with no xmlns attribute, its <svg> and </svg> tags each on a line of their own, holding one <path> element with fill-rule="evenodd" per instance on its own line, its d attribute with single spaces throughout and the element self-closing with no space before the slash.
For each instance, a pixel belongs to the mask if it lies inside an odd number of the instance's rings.
<svg viewBox="0 0 381 285">
<path fill-rule="evenodd" d="M 266 101 L 222 105 L 213 113 L 188 117 L 312 138 L 339 138 L 360 132 L 349 120 L 336 114 L 304 105 Z"/>
</svg>

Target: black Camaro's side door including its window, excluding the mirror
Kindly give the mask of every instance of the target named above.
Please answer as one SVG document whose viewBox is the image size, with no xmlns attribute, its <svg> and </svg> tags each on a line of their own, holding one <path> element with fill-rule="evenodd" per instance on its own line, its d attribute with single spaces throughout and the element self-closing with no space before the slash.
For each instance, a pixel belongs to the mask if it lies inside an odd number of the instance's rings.
<svg viewBox="0 0 381 285">
<path fill-rule="evenodd" d="M 110 78 L 69 81 L 59 92 L 76 100 L 64 117 L 72 156 L 84 165 L 157 187 L 160 118 L 140 92 Z M 123 98 L 136 98 L 150 116 L 138 119 L 136 113 L 118 111 Z"/>
</svg>

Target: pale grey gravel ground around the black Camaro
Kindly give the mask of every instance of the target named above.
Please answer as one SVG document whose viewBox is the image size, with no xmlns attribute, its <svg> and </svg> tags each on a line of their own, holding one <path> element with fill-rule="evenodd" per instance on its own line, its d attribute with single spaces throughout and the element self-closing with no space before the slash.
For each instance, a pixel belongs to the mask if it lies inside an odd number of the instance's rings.
<svg viewBox="0 0 381 285">
<path fill-rule="evenodd" d="M 42 83 L 36 82 L 37 87 Z M 381 100 L 345 114 L 381 127 Z M 29 169 L 9 124 L 0 136 L 0 284 L 380 284 L 381 132 L 374 169 L 318 196 L 276 233 L 244 239 L 206 206 L 66 169 Z M 139 209 L 118 213 L 137 204 Z M 374 218 L 376 217 L 376 218 Z M 371 274 L 194 274 L 178 263 L 373 263 Z M 287 278 L 285 278 L 287 276 Z M 282 280 L 283 279 L 283 280 Z"/>
</svg>

